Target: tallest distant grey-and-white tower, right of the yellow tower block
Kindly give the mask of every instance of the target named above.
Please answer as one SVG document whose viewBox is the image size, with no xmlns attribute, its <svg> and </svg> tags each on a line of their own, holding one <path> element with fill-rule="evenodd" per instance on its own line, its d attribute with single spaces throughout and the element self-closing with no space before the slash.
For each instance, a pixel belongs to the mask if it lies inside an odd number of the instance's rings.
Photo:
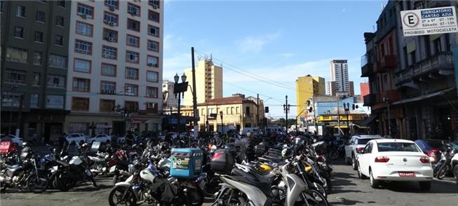
<svg viewBox="0 0 458 206">
<path fill-rule="evenodd" d="M 338 92 L 349 91 L 349 64 L 347 60 L 332 60 L 330 62 L 331 81 L 335 81 Z"/>
</svg>

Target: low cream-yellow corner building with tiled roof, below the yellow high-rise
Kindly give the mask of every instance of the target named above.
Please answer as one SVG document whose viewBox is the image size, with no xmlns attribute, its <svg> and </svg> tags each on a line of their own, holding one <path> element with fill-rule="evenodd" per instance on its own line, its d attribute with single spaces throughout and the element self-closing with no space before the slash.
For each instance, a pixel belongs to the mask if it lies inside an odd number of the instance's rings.
<svg viewBox="0 0 458 206">
<path fill-rule="evenodd" d="M 264 104 L 260 99 L 259 105 L 259 120 L 257 122 L 257 101 L 254 97 L 246 97 L 236 94 L 232 97 L 224 97 L 219 99 L 211 99 L 204 103 L 197 104 L 199 121 L 199 131 L 221 132 L 222 127 L 228 128 L 234 126 L 240 131 L 243 128 L 262 128 L 262 119 L 264 118 Z M 221 112 L 222 111 L 222 120 Z M 184 107 L 181 109 L 182 116 L 193 116 L 192 107 Z M 208 121 L 208 125 L 207 125 Z"/>
</svg>

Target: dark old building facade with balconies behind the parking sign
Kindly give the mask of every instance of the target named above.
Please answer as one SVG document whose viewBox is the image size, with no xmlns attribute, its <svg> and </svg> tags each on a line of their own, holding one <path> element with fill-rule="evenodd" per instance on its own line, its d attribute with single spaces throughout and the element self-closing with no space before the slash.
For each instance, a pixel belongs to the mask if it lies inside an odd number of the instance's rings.
<svg viewBox="0 0 458 206">
<path fill-rule="evenodd" d="M 365 33 L 362 76 L 368 76 L 372 130 L 405 139 L 447 139 L 457 134 L 458 102 L 452 47 L 456 34 L 403 36 L 400 11 L 457 6 L 456 1 L 389 1 L 377 32 Z M 389 107 L 389 109 L 388 109 Z"/>
</svg>

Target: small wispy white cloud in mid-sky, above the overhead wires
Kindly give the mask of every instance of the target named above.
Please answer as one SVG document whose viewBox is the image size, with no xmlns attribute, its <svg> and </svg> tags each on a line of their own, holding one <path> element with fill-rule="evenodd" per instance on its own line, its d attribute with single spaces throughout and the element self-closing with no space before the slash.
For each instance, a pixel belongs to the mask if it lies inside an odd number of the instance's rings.
<svg viewBox="0 0 458 206">
<path fill-rule="evenodd" d="M 276 40 L 278 36 L 280 36 L 280 32 L 262 36 L 246 36 L 244 39 L 236 41 L 236 44 L 243 53 L 259 53 L 264 45 Z"/>
</svg>

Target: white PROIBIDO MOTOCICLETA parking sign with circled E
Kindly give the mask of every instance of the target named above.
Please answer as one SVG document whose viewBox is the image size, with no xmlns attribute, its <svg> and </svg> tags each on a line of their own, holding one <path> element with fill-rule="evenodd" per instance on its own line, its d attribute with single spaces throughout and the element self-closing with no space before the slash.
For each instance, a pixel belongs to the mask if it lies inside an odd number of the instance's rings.
<svg viewBox="0 0 458 206">
<path fill-rule="evenodd" d="M 458 32 L 454 6 L 400 11 L 404 36 Z"/>
</svg>

